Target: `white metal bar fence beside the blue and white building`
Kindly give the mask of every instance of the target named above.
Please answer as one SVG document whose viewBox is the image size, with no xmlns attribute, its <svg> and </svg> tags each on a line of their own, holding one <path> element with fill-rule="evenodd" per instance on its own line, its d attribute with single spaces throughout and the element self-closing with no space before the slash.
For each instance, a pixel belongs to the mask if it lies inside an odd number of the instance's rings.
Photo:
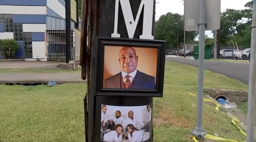
<svg viewBox="0 0 256 142">
<path fill-rule="evenodd" d="M 65 30 L 46 31 L 46 49 L 48 61 L 66 60 L 66 33 Z M 80 31 L 71 31 L 71 60 L 79 61 L 80 58 Z"/>
</svg>

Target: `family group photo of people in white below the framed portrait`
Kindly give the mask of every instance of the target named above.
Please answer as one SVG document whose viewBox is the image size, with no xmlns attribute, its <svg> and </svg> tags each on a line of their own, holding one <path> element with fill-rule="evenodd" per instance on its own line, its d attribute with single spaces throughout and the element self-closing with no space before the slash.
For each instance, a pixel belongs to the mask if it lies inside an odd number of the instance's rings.
<svg viewBox="0 0 256 142">
<path fill-rule="evenodd" d="M 151 106 L 151 104 L 145 106 L 102 105 L 101 141 L 147 141 L 152 129 Z"/>
</svg>

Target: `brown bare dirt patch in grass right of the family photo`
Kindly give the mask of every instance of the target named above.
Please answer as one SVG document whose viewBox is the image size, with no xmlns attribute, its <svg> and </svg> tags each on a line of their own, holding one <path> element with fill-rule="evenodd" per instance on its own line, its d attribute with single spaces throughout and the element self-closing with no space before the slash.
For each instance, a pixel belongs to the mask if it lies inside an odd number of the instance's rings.
<svg viewBox="0 0 256 142">
<path fill-rule="evenodd" d="M 191 129 L 194 127 L 191 122 L 181 116 L 176 116 L 173 111 L 159 111 L 158 115 L 158 118 L 153 118 L 156 126 L 163 125 L 165 123 Z"/>
</svg>

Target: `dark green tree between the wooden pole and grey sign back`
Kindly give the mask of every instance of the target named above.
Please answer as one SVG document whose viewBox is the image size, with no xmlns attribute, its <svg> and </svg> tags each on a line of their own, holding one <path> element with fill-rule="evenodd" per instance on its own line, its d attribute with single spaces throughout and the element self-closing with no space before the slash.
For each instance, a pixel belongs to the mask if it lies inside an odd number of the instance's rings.
<svg viewBox="0 0 256 142">
<path fill-rule="evenodd" d="M 198 32 L 186 32 L 187 43 L 194 41 Z M 177 48 L 184 41 L 184 16 L 178 13 L 166 13 L 155 22 L 155 39 L 165 40 L 167 48 Z"/>
</svg>

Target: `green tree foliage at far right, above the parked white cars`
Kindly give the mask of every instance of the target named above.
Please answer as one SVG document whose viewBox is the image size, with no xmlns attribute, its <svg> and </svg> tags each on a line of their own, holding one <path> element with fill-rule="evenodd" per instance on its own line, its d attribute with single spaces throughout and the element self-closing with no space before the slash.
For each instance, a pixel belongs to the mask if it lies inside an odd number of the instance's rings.
<svg viewBox="0 0 256 142">
<path fill-rule="evenodd" d="M 221 13 L 221 46 L 250 46 L 252 5 L 253 1 L 249 1 L 245 9 L 226 9 Z"/>
</svg>

